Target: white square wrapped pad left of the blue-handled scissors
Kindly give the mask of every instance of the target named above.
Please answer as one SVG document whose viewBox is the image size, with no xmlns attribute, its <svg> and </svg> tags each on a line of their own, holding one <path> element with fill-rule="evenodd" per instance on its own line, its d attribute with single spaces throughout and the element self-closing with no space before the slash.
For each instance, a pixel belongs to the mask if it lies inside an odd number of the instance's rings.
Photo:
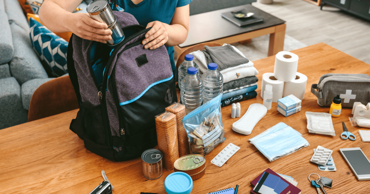
<svg viewBox="0 0 370 194">
<path fill-rule="evenodd" d="M 307 129 L 309 133 L 335 136 L 332 115 L 324 112 L 306 111 Z"/>
</svg>

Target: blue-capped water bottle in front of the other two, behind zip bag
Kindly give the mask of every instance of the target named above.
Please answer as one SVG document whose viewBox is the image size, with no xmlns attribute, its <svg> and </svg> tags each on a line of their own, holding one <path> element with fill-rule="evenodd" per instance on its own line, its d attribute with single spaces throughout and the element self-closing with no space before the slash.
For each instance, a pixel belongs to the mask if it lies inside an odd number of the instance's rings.
<svg viewBox="0 0 370 194">
<path fill-rule="evenodd" d="M 188 75 L 181 80 L 181 102 L 185 105 L 185 113 L 198 108 L 203 102 L 203 83 L 195 67 L 188 68 Z"/>
</svg>

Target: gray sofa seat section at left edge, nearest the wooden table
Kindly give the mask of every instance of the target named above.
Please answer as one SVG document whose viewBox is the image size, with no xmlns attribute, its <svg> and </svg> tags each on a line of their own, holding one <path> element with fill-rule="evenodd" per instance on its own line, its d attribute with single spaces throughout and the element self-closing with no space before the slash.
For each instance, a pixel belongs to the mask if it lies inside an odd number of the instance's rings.
<svg viewBox="0 0 370 194">
<path fill-rule="evenodd" d="M 0 129 L 27 122 L 28 113 L 24 110 L 21 89 L 13 77 L 0 79 Z"/>
</svg>

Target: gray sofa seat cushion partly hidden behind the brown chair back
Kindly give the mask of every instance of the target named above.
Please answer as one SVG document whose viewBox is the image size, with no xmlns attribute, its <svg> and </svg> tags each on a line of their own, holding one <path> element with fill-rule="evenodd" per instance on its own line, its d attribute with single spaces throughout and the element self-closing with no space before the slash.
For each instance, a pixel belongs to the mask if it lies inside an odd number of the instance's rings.
<svg viewBox="0 0 370 194">
<path fill-rule="evenodd" d="M 40 85 L 44 84 L 47 81 L 50 81 L 51 79 L 54 78 L 31 79 L 22 84 L 21 96 L 24 109 L 28 110 L 30 108 L 30 102 L 33 92 L 35 92 Z"/>
</svg>

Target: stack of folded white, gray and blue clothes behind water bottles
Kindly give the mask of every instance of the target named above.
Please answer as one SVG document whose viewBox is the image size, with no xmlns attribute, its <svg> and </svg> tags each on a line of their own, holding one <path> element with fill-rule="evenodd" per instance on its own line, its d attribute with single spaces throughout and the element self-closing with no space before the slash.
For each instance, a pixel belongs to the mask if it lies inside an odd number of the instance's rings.
<svg viewBox="0 0 370 194">
<path fill-rule="evenodd" d="M 223 76 L 221 106 L 244 101 L 257 96 L 258 71 L 242 52 L 230 44 L 220 47 L 204 47 L 203 51 L 191 52 L 200 73 L 207 71 L 207 65 L 215 62 Z"/>
</svg>

